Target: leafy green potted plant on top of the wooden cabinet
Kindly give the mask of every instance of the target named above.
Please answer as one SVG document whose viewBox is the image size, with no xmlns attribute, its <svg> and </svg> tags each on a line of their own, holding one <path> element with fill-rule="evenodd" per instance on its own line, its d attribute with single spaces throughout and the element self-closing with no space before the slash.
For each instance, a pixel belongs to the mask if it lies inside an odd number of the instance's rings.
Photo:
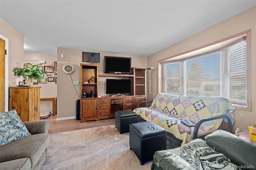
<svg viewBox="0 0 256 170">
<path fill-rule="evenodd" d="M 34 80 L 38 80 L 39 82 L 42 79 L 43 75 L 46 75 L 46 72 L 40 70 L 38 65 L 32 65 L 28 63 L 28 67 L 20 68 L 15 67 L 13 69 L 14 76 L 20 77 L 21 75 L 26 79 L 28 77 L 30 81 L 30 85 L 33 85 Z"/>
</svg>

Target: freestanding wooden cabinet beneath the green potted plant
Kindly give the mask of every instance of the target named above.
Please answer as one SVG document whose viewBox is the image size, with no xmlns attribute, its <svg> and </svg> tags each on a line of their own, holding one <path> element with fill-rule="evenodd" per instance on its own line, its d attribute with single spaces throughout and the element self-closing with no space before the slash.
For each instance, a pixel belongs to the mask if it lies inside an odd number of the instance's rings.
<svg viewBox="0 0 256 170">
<path fill-rule="evenodd" d="M 9 87 L 9 109 L 15 109 L 22 122 L 40 120 L 40 88 Z"/>
</svg>

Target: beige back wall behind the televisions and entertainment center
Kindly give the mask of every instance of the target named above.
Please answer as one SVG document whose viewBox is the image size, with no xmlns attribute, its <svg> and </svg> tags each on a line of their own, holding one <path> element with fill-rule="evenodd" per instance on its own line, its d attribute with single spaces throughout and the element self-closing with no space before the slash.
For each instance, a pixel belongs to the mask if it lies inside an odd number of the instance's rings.
<svg viewBox="0 0 256 170">
<path fill-rule="evenodd" d="M 147 57 L 125 55 L 118 53 L 108 53 L 101 51 L 88 51 L 86 49 L 68 49 L 68 48 L 57 48 L 57 62 L 58 62 L 58 114 L 57 120 L 62 119 L 73 119 L 76 116 L 76 100 L 80 97 L 80 63 L 82 62 L 82 51 L 100 53 L 100 63 L 98 64 L 98 72 L 103 73 L 104 71 L 104 56 L 117 56 L 117 57 L 131 57 L 132 67 L 147 67 Z M 60 55 L 63 54 L 64 58 Z M 74 65 L 75 71 L 71 75 L 66 74 L 62 71 L 64 64 L 69 63 Z M 72 78 L 72 79 L 71 79 Z M 102 96 L 106 95 L 106 78 L 115 77 L 99 77 L 98 93 Z M 73 85 L 73 81 L 79 81 L 79 85 Z M 77 93 L 78 94 L 77 94 Z"/>
</svg>

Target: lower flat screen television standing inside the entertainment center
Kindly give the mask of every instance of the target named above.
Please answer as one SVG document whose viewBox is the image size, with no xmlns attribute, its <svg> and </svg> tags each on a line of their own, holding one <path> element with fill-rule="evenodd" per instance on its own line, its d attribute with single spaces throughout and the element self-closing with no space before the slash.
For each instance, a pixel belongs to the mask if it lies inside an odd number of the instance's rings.
<svg viewBox="0 0 256 170">
<path fill-rule="evenodd" d="M 131 79 L 106 79 L 106 94 L 111 96 L 132 93 Z"/>
</svg>

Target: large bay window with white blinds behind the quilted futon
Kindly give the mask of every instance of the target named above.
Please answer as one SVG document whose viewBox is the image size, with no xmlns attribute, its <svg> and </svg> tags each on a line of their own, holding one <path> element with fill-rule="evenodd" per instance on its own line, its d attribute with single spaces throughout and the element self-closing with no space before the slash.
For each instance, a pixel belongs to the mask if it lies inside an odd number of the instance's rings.
<svg viewBox="0 0 256 170">
<path fill-rule="evenodd" d="M 246 36 L 218 50 L 180 58 L 162 62 L 164 93 L 222 96 L 247 105 Z"/>
</svg>

